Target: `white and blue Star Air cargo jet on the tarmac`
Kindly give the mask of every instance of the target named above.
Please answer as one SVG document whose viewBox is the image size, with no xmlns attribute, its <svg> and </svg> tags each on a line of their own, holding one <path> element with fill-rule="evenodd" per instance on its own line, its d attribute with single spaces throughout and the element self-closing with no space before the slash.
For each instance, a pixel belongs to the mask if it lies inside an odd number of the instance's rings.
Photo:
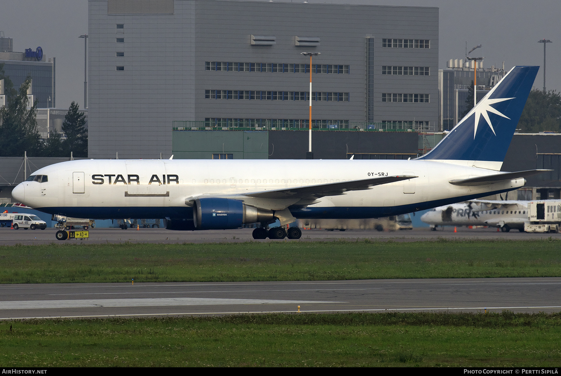
<svg viewBox="0 0 561 376">
<path fill-rule="evenodd" d="M 175 230 L 261 223 L 254 238 L 299 238 L 296 218 L 399 215 L 517 189 L 545 170 L 500 172 L 539 67 L 514 67 L 416 159 L 90 159 L 40 168 L 13 198 L 68 217 L 165 218 Z M 63 234 L 57 238 L 64 238 Z"/>
</svg>

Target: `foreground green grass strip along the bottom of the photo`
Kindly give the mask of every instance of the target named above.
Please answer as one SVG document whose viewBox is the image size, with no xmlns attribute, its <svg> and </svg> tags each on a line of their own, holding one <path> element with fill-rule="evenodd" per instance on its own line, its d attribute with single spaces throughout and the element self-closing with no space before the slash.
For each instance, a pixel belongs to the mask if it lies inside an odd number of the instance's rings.
<svg viewBox="0 0 561 376">
<path fill-rule="evenodd" d="M 10 321 L 0 322 L 0 363 L 558 366 L 560 324 L 559 313 L 508 311 Z"/>
</svg>

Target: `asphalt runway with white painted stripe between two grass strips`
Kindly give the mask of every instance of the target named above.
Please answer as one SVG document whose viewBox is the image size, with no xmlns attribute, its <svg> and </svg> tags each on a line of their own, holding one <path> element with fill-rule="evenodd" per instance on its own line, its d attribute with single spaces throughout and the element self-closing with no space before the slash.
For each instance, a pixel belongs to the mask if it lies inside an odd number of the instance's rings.
<svg viewBox="0 0 561 376">
<path fill-rule="evenodd" d="M 0 285 L 0 319 L 265 312 L 561 311 L 561 278 Z"/>
</svg>

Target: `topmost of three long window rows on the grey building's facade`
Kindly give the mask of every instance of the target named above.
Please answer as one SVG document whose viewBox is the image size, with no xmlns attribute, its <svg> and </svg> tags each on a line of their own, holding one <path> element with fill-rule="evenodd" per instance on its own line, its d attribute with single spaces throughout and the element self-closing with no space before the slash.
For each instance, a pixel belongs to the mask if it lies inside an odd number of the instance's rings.
<svg viewBox="0 0 561 376">
<path fill-rule="evenodd" d="M 205 62 L 205 70 L 219 72 L 310 73 L 310 64 Z M 349 65 L 312 64 L 312 73 L 348 74 Z"/>
</svg>

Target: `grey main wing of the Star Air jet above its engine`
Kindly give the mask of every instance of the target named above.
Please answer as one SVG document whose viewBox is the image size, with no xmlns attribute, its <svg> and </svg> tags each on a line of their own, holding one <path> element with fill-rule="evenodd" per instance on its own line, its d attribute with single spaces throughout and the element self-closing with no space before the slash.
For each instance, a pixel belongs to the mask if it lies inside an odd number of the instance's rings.
<svg viewBox="0 0 561 376">
<path fill-rule="evenodd" d="M 399 175 L 399 176 L 383 176 L 362 180 L 350 180 L 337 183 L 306 185 L 302 187 L 293 187 L 287 189 L 275 189 L 270 191 L 260 191 L 246 193 L 246 196 L 262 199 L 303 199 L 314 196 L 320 198 L 323 196 L 344 195 L 346 191 L 360 191 L 371 189 L 375 185 L 394 183 L 397 181 L 408 180 L 418 176 Z"/>
</svg>

